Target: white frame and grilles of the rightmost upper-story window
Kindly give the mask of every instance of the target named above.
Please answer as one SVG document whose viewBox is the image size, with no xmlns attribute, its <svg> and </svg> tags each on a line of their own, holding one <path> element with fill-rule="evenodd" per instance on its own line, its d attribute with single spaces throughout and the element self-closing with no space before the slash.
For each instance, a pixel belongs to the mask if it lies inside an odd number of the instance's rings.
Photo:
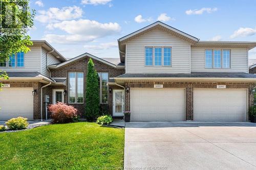
<svg viewBox="0 0 256 170">
<path fill-rule="evenodd" d="M 212 65 L 211 67 L 206 67 L 206 50 L 212 51 Z M 214 51 L 221 50 L 221 67 L 214 66 Z M 229 50 L 229 67 L 223 67 L 223 50 Z M 204 49 L 204 68 L 205 69 L 231 69 L 231 49 L 230 48 L 205 48 Z"/>
</svg>

